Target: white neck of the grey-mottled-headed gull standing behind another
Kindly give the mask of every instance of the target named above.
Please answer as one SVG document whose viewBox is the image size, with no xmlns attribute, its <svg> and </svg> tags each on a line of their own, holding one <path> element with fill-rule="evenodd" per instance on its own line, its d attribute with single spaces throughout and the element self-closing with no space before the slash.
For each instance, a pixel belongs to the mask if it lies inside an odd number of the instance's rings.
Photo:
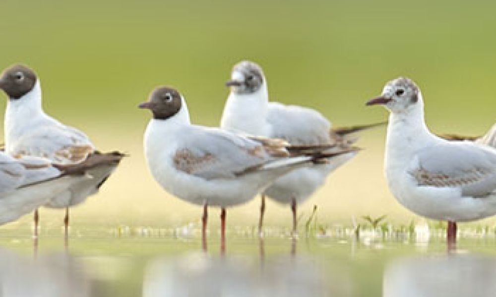
<svg viewBox="0 0 496 297">
<path fill-rule="evenodd" d="M 222 113 L 221 127 L 235 129 L 252 135 L 269 136 L 267 126 L 269 95 L 267 85 L 251 94 L 232 92 Z"/>
</svg>

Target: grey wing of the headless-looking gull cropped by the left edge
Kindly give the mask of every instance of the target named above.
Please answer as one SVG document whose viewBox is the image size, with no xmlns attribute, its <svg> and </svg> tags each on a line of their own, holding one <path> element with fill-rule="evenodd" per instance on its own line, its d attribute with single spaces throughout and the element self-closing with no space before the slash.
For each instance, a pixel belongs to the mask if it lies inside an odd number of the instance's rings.
<svg viewBox="0 0 496 297">
<path fill-rule="evenodd" d="M 0 194 L 8 193 L 19 187 L 25 176 L 24 166 L 16 159 L 0 153 Z"/>
</svg>

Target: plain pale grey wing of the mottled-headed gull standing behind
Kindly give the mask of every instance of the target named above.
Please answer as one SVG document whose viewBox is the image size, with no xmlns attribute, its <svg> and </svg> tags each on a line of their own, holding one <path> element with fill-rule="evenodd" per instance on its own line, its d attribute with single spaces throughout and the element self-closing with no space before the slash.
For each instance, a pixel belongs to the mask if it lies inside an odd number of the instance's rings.
<svg viewBox="0 0 496 297">
<path fill-rule="evenodd" d="M 291 145 L 330 144 L 331 123 L 318 111 L 296 105 L 269 102 L 267 122 L 270 137 L 281 138 Z"/>
</svg>

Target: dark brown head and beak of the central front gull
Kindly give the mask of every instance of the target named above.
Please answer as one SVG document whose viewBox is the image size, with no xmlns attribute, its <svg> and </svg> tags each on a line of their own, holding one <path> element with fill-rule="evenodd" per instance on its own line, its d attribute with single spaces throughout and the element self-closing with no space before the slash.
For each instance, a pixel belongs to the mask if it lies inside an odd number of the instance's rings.
<svg viewBox="0 0 496 297">
<path fill-rule="evenodd" d="M 150 109 L 153 118 L 166 120 L 176 115 L 183 105 L 183 97 L 178 90 L 171 87 L 158 87 L 152 91 L 148 101 L 138 105 L 139 108 Z"/>
</svg>

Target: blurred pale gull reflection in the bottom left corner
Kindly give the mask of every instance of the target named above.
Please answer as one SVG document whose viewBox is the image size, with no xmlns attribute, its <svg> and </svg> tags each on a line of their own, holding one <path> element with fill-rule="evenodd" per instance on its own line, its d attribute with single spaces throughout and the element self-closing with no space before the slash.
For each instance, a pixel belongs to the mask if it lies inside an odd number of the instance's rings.
<svg viewBox="0 0 496 297">
<path fill-rule="evenodd" d="M 66 254 L 34 259 L 0 249 L 0 296 L 93 296 L 84 269 Z"/>
</svg>

